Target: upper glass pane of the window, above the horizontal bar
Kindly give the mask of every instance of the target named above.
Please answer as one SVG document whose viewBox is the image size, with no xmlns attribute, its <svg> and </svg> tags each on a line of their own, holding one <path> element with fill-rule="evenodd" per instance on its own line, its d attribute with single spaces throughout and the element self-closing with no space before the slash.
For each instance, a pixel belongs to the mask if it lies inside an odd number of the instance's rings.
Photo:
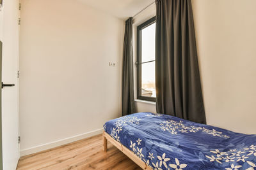
<svg viewBox="0 0 256 170">
<path fill-rule="evenodd" d="M 141 30 L 141 62 L 155 60 L 156 23 Z"/>
</svg>

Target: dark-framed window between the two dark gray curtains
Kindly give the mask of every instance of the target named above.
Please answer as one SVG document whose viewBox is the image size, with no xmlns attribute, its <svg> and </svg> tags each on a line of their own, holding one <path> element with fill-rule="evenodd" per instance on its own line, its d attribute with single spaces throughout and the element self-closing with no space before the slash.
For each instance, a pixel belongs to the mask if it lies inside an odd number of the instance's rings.
<svg viewBox="0 0 256 170">
<path fill-rule="evenodd" d="M 155 41 L 156 17 L 137 28 L 137 98 L 156 101 Z"/>
</svg>

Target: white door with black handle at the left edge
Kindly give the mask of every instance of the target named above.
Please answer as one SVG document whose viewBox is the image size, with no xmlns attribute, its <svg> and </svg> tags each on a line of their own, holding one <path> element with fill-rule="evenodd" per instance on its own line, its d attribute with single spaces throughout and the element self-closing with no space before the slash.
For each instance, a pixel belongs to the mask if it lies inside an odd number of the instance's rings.
<svg viewBox="0 0 256 170">
<path fill-rule="evenodd" d="M 2 89 L 3 169 L 14 170 L 19 160 L 19 0 L 3 1 L 2 17 L 2 81 L 15 84 Z"/>
</svg>

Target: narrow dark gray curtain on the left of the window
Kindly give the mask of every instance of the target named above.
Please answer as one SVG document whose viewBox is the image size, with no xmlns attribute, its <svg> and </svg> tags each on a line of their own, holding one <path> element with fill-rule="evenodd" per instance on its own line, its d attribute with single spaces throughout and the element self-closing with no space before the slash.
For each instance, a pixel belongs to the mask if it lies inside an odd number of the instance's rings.
<svg viewBox="0 0 256 170">
<path fill-rule="evenodd" d="M 123 74 L 122 74 L 122 115 L 134 113 L 133 45 L 132 18 L 125 21 Z"/>
</svg>

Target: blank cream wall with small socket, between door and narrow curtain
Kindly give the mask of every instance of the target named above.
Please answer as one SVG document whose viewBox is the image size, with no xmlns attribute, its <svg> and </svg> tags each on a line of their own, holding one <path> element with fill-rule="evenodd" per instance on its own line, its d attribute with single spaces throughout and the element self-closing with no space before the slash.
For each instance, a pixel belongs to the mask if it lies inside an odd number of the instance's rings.
<svg viewBox="0 0 256 170">
<path fill-rule="evenodd" d="M 120 117 L 124 21 L 70 0 L 22 0 L 21 20 L 21 155 Z"/>
</svg>

